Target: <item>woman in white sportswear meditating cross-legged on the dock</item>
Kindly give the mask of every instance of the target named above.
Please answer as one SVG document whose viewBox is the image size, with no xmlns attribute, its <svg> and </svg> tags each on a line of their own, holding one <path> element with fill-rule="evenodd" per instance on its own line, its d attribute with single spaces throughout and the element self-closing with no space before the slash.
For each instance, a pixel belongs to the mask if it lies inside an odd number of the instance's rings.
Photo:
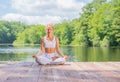
<svg viewBox="0 0 120 82">
<path fill-rule="evenodd" d="M 54 36 L 52 24 L 46 26 L 46 36 L 41 39 L 41 50 L 33 55 L 39 64 L 64 64 L 68 56 L 65 56 L 59 49 L 59 40 Z M 61 56 L 61 57 L 60 57 Z"/>
</svg>

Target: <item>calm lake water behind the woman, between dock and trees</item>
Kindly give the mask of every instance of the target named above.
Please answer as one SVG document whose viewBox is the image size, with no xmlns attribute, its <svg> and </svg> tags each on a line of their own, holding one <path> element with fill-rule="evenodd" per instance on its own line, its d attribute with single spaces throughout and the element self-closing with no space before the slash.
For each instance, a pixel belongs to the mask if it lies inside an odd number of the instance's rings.
<svg viewBox="0 0 120 82">
<path fill-rule="evenodd" d="M 34 61 L 32 55 L 39 49 L 39 45 L 0 45 L 0 61 Z M 118 47 L 60 46 L 60 49 L 70 57 L 70 62 L 120 61 Z"/>
</svg>

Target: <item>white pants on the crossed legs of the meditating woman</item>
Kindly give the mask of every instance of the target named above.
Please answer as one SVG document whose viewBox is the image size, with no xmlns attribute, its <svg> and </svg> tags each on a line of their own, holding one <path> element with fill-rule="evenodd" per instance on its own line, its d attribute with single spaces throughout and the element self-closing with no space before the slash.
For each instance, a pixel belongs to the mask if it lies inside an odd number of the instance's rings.
<svg viewBox="0 0 120 82">
<path fill-rule="evenodd" d="M 56 53 L 44 53 L 41 56 L 38 56 L 36 58 L 36 62 L 39 64 L 64 64 L 65 63 L 65 59 L 62 57 L 59 57 L 57 59 L 55 59 L 54 61 L 52 60 L 52 57 L 54 56 L 58 56 L 58 54 Z"/>
</svg>

